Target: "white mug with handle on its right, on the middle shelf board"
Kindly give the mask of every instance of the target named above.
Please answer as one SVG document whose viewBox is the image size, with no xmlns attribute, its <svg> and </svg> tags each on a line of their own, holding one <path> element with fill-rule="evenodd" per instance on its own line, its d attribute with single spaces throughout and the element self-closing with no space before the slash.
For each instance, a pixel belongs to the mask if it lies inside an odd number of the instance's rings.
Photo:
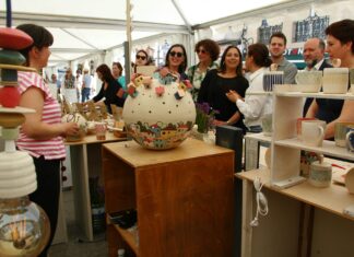
<svg viewBox="0 0 354 257">
<path fill-rule="evenodd" d="M 304 120 L 302 122 L 302 140 L 304 144 L 310 147 L 322 147 L 326 121 Z"/>
</svg>

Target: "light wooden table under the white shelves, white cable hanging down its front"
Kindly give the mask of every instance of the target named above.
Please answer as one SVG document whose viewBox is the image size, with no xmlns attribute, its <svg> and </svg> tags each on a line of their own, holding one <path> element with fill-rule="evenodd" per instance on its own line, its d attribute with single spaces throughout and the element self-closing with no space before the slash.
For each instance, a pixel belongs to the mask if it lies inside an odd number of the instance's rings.
<svg viewBox="0 0 354 257">
<path fill-rule="evenodd" d="M 317 188 L 304 182 L 280 189 L 270 185 L 268 168 L 237 173 L 236 176 L 245 179 L 243 256 L 352 256 L 354 218 L 344 215 L 343 210 L 354 205 L 354 195 L 350 195 L 345 187 L 331 184 L 327 188 Z M 264 183 L 262 191 L 268 198 L 269 214 L 259 217 L 259 226 L 251 227 L 256 177 Z M 307 205 L 315 207 L 314 224 L 302 231 L 300 224 L 307 219 L 302 215 L 302 208 Z"/>
</svg>

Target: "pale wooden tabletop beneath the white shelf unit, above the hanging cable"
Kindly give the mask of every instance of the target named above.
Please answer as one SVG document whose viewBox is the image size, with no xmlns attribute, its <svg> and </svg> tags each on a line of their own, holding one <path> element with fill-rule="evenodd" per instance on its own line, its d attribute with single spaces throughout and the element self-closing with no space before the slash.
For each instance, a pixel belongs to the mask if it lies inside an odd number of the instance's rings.
<svg viewBox="0 0 354 257">
<path fill-rule="evenodd" d="M 237 173 L 236 176 L 250 182 L 260 177 L 266 188 L 354 221 L 354 217 L 343 214 L 344 208 L 354 205 L 354 195 L 349 194 L 343 186 L 331 184 L 330 187 L 317 188 L 304 182 L 286 189 L 279 189 L 271 185 L 270 171 L 267 168 Z"/>
</svg>

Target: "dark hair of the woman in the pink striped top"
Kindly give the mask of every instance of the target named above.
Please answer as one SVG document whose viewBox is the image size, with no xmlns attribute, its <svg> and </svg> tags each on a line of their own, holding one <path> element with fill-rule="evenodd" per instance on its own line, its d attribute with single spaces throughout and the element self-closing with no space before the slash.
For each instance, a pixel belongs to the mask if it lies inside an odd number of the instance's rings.
<svg viewBox="0 0 354 257">
<path fill-rule="evenodd" d="M 26 58 L 26 65 L 28 65 L 28 52 L 33 47 L 37 47 L 40 50 L 43 47 L 49 47 L 54 43 L 51 33 L 43 26 L 36 24 L 21 24 L 16 28 L 28 34 L 33 39 L 31 46 L 20 50 L 20 52 Z"/>
</svg>

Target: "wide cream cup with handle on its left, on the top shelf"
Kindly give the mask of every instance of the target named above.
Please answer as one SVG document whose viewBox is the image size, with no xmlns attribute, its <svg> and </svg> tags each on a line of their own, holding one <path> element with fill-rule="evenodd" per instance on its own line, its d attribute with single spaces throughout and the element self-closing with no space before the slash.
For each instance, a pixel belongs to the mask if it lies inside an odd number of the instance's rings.
<svg viewBox="0 0 354 257">
<path fill-rule="evenodd" d="M 322 71 L 298 71 L 295 81 L 302 92 L 318 93 L 322 85 Z"/>
</svg>

